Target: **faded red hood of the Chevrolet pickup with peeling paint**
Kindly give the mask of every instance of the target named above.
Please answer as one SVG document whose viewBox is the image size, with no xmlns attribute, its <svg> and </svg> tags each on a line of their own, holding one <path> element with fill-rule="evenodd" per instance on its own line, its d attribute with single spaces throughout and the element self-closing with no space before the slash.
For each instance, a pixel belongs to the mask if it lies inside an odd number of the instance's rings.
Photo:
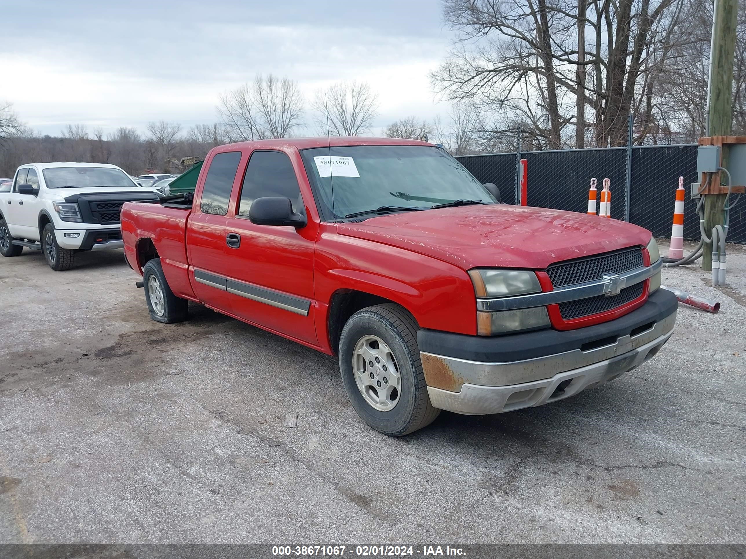
<svg viewBox="0 0 746 559">
<path fill-rule="evenodd" d="M 553 262 L 648 244 L 650 231 L 616 219 L 557 209 L 491 204 L 402 212 L 338 224 L 341 235 L 451 262 L 543 269 Z"/>
</svg>

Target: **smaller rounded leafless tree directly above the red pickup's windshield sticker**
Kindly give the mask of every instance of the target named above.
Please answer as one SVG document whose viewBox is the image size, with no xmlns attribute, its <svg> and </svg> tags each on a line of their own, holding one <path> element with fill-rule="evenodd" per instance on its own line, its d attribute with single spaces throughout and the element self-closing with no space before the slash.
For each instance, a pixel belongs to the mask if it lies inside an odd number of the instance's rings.
<svg viewBox="0 0 746 559">
<path fill-rule="evenodd" d="M 316 92 L 311 104 L 319 131 L 333 136 L 369 132 L 378 111 L 378 96 L 368 83 L 342 81 Z"/>
</svg>

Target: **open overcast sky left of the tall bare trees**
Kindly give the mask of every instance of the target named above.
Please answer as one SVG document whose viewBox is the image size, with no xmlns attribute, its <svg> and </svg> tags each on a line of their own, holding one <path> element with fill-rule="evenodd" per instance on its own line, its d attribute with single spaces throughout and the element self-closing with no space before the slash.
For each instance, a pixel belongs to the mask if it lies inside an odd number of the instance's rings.
<svg viewBox="0 0 746 559">
<path fill-rule="evenodd" d="M 310 98 L 370 83 L 376 125 L 444 113 L 427 73 L 451 34 L 439 0 L 4 0 L 0 100 L 34 130 L 216 121 L 220 92 L 272 72 Z M 311 119 L 307 119 L 310 126 Z"/>
</svg>

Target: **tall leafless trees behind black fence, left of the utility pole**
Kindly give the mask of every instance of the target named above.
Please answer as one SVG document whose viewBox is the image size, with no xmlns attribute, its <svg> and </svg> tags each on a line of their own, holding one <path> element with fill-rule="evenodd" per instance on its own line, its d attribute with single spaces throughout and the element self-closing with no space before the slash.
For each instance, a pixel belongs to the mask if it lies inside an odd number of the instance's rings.
<svg viewBox="0 0 746 559">
<path fill-rule="evenodd" d="M 651 121 L 660 70 L 689 41 L 677 29 L 689 3 L 445 0 L 459 35 L 431 78 L 446 98 L 491 113 L 495 136 L 520 124 L 542 148 L 585 145 L 586 129 L 597 146 L 624 145 L 627 117 Z"/>
</svg>

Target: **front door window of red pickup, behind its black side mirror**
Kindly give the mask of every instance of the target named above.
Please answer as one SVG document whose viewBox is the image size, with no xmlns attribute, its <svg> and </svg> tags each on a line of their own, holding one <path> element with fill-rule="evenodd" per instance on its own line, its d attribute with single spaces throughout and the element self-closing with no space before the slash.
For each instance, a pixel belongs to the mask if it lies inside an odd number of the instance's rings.
<svg viewBox="0 0 746 559">
<path fill-rule="evenodd" d="M 251 203 L 263 196 L 290 198 L 292 211 L 303 206 L 301 188 L 290 158 L 281 151 L 254 151 L 241 187 L 238 215 L 248 217 Z"/>
</svg>

